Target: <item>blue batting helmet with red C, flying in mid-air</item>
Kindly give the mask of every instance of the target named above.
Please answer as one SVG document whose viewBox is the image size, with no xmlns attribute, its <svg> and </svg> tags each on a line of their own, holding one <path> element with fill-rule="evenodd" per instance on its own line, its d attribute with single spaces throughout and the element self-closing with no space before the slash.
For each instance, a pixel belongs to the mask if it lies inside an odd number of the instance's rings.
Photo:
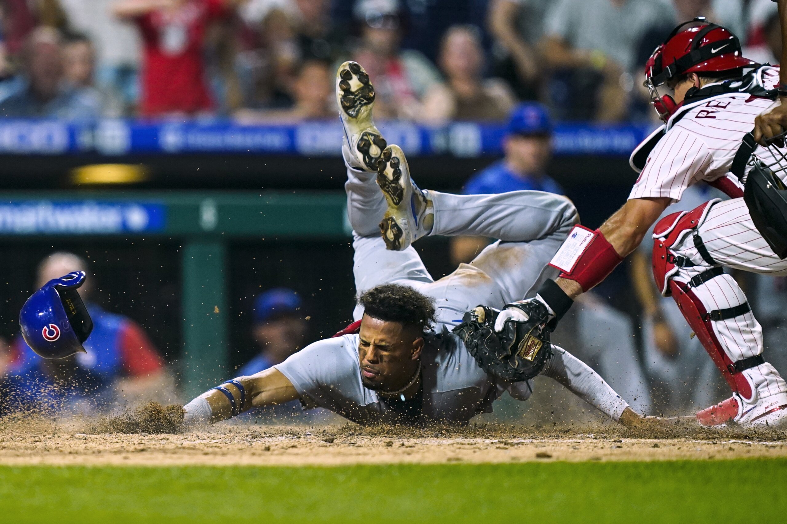
<svg viewBox="0 0 787 524">
<path fill-rule="evenodd" d="M 63 359 L 86 352 L 82 343 L 93 321 L 76 288 L 85 282 L 84 271 L 52 279 L 32 294 L 19 313 L 22 338 L 39 356 Z"/>
</svg>

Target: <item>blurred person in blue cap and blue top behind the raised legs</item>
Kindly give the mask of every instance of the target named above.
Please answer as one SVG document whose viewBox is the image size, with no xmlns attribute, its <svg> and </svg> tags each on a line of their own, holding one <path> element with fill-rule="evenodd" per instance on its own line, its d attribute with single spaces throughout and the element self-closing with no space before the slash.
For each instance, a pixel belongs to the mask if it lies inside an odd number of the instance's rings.
<svg viewBox="0 0 787 524">
<path fill-rule="evenodd" d="M 505 156 L 473 175 L 464 185 L 464 194 L 498 194 L 533 190 L 563 194 L 545 173 L 552 155 L 552 121 L 538 102 L 523 102 L 508 116 L 503 139 Z M 455 237 L 451 258 L 455 264 L 469 262 L 489 243 L 487 238 Z"/>
</svg>

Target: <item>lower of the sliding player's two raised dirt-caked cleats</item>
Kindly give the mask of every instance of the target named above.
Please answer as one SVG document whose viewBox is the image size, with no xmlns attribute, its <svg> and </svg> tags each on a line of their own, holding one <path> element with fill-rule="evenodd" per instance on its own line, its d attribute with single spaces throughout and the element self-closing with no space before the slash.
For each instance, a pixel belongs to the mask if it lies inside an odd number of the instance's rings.
<svg viewBox="0 0 787 524">
<path fill-rule="evenodd" d="M 434 206 L 427 192 L 412 182 L 405 153 L 399 146 L 388 146 L 382 152 L 377 165 L 377 185 L 388 202 L 388 210 L 380 222 L 387 249 L 402 251 L 429 234 L 434 226 Z"/>
</svg>

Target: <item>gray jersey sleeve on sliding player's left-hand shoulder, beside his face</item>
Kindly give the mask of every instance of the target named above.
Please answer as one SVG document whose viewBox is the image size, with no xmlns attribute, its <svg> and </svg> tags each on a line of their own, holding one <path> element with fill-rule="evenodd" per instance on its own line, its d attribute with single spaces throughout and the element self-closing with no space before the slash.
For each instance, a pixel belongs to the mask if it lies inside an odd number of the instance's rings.
<svg viewBox="0 0 787 524">
<path fill-rule="evenodd" d="M 305 408 L 336 410 L 342 400 L 359 404 L 357 335 L 326 338 L 306 346 L 274 367 L 290 382 Z"/>
</svg>

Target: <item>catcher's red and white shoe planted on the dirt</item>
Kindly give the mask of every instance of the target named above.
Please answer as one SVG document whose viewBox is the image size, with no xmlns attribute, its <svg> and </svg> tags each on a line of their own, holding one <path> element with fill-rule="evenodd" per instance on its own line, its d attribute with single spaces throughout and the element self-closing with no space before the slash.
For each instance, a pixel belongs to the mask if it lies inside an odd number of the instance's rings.
<svg viewBox="0 0 787 524">
<path fill-rule="evenodd" d="M 787 421 L 787 393 L 774 393 L 748 404 L 737 393 L 696 414 L 702 426 L 737 423 L 745 427 L 780 426 Z"/>
</svg>

